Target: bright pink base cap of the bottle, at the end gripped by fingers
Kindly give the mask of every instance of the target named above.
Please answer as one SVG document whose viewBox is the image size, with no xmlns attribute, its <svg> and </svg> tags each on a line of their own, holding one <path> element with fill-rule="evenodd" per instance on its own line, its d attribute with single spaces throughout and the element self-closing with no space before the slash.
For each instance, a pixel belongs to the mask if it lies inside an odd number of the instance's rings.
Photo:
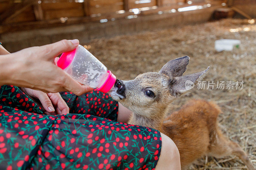
<svg viewBox="0 0 256 170">
<path fill-rule="evenodd" d="M 73 61 L 76 54 L 76 48 L 72 51 L 64 52 L 60 56 L 60 59 L 57 62 L 57 66 L 62 70 L 66 69 Z"/>
</svg>

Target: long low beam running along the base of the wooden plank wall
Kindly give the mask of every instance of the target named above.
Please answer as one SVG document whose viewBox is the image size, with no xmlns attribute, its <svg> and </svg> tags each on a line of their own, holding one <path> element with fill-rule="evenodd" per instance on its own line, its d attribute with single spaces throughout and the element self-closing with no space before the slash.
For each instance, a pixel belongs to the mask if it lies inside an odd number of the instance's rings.
<svg viewBox="0 0 256 170">
<path fill-rule="evenodd" d="M 220 7 L 221 5 L 216 5 L 201 10 L 141 15 L 138 18 L 110 20 L 105 23 L 86 22 L 10 32 L 0 34 L 0 40 L 10 52 L 16 52 L 27 47 L 45 45 L 62 39 L 78 39 L 80 44 L 84 45 L 96 38 L 109 38 L 148 30 L 203 23 L 211 19 L 213 11 Z"/>
</svg>

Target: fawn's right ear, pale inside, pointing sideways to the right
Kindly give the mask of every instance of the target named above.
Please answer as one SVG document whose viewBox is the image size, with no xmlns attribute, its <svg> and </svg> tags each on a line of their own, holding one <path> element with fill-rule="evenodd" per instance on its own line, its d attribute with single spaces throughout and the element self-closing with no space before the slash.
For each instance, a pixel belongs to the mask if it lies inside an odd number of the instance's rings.
<svg viewBox="0 0 256 170">
<path fill-rule="evenodd" d="M 188 74 L 186 76 L 181 76 L 181 77 L 170 78 L 169 89 L 170 89 L 171 95 L 174 97 L 179 97 L 182 94 L 185 94 L 186 92 L 188 92 L 190 89 L 194 87 L 194 85 L 198 81 L 201 81 L 206 76 L 206 72 L 209 70 L 209 68 L 210 67 L 198 73 Z"/>
</svg>

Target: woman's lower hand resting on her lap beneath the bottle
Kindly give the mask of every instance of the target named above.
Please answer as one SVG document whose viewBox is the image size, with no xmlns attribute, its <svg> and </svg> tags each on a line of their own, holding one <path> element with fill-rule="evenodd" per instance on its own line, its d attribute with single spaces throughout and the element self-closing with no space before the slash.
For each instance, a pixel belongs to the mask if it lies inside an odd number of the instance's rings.
<svg viewBox="0 0 256 170">
<path fill-rule="evenodd" d="M 21 88 L 33 101 L 35 101 L 46 115 L 63 115 L 69 113 L 66 102 L 60 96 L 60 93 L 45 93 L 39 90 Z"/>
</svg>

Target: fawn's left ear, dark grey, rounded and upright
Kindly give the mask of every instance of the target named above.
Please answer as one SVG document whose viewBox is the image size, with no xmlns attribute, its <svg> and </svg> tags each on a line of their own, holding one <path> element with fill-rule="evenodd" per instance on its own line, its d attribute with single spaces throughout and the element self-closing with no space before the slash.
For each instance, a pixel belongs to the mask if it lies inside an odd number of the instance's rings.
<svg viewBox="0 0 256 170">
<path fill-rule="evenodd" d="M 187 70 L 188 61 L 188 56 L 171 60 L 162 67 L 159 73 L 165 74 L 169 77 L 182 76 L 182 74 Z"/>
</svg>

